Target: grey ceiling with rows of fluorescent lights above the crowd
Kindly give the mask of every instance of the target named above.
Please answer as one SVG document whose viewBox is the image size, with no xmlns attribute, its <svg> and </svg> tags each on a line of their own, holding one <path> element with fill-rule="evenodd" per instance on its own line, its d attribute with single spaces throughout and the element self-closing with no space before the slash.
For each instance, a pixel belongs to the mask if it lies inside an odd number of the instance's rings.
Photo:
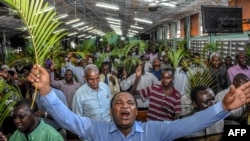
<svg viewBox="0 0 250 141">
<path fill-rule="evenodd" d="M 228 0 L 44 0 L 50 6 L 54 6 L 56 12 L 59 14 L 67 13 L 69 16 L 61 19 L 62 22 L 69 21 L 74 18 L 80 18 L 84 22 L 84 27 L 88 25 L 98 31 L 105 33 L 113 29 L 106 20 L 107 17 L 119 19 L 121 22 L 121 33 L 126 36 L 131 30 L 140 33 L 148 33 L 155 27 L 167 24 L 172 21 L 182 19 L 186 16 L 193 15 L 200 12 L 201 5 L 228 5 Z M 100 8 L 96 3 L 103 2 L 117 5 L 119 10 L 110 10 L 107 8 Z M 176 7 L 164 6 L 163 3 L 175 4 Z M 135 21 L 134 18 L 147 19 L 152 21 L 151 24 Z M 143 27 L 143 29 L 131 28 L 131 25 Z M 20 19 L 4 5 L 0 6 L 0 37 L 13 36 L 21 34 L 17 30 L 21 27 Z M 72 27 L 72 25 L 62 24 L 61 28 L 66 28 L 70 33 L 77 32 L 74 36 L 82 34 L 92 34 L 86 30 L 79 31 L 79 27 Z M 100 33 L 99 32 L 99 33 Z M 85 36 L 85 37 L 86 37 Z"/>
</svg>

